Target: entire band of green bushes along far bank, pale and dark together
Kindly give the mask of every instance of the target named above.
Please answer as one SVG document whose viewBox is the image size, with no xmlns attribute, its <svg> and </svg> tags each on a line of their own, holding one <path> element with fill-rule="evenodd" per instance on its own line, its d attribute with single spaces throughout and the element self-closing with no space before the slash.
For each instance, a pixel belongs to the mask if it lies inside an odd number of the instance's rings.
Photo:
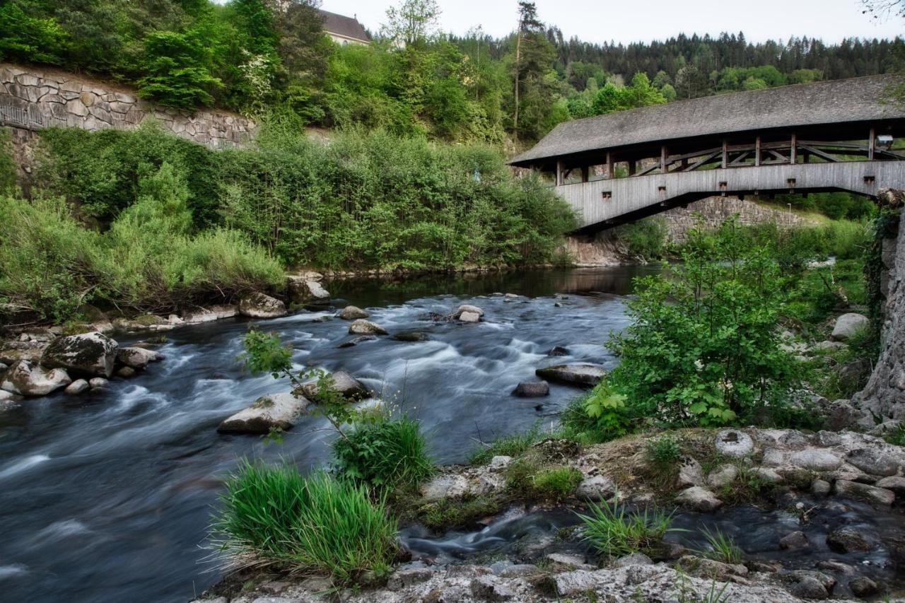
<svg viewBox="0 0 905 603">
<path fill-rule="evenodd" d="M 218 152 L 153 125 L 48 129 L 40 156 L 31 200 L 12 187 L 2 200 L 0 298 L 22 321 L 228 302 L 280 291 L 299 265 L 548 263 L 574 225 L 498 151 L 380 131 L 323 144 L 278 122 Z"/>
</svg>

